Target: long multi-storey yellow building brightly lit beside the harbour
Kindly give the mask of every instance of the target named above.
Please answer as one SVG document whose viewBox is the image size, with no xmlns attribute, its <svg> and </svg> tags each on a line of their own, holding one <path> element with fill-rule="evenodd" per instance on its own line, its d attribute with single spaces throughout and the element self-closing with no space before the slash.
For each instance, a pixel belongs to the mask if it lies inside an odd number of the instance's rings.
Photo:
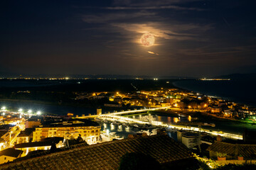
<svg viewBox="0 0 256 170">
<path fill-rule="evenodd" d="M 33 132 L 33 142 L 41 141 L 46 137 L 64 137 L 64 139 L 77 139 L 81 135 L 82 140 L 88 144 L 94 144 L 100 140 L 100 125 L 91 120 L 75 120 L 73 122 L 54 123 L 40 125 Z"/>
</svg>

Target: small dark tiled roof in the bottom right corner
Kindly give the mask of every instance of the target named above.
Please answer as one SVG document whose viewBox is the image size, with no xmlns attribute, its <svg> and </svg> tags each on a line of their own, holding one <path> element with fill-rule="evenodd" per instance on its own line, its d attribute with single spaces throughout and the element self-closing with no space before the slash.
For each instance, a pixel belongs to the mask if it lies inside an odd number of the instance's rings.
<svg viewBox="0 0 256 170">
<path fill-rule="evenodd" d="M 207 150 L 225 153 L 234 157 L 242 155 L 246 159 L 256 159 L 256 145 L 240 145 L 215 141 Z"/>
</svg>

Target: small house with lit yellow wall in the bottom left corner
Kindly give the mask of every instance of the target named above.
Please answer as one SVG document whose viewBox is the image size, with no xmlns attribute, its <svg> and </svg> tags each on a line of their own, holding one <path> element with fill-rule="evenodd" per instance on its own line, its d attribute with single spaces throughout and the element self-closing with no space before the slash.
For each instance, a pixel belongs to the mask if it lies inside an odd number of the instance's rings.
<svg viewBox="0 0 256 170">
<path fill-rule="evenodd" d="M 4 164 L 6 162 L 12 162 L 14 159 L 21 157 L 23 151 L 16 150 L 14 148 L 4 149 L 0 152 L 0 164 Z"/>
</svg>

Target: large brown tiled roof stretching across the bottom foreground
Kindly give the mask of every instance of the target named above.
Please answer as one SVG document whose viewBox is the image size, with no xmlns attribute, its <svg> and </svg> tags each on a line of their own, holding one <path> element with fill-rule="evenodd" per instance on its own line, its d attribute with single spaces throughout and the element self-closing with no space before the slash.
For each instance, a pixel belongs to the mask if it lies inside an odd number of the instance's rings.
<svg viewBox="0 0 256 170">
<path fill-rule="evenodd" d="M 154 135 L 47 154 L 6 164 L 0 169 L 118 169 L 121 157 L 127 152 L 149 154 L 160 164 L 193 157 L 186 147 L 171 137 Z"/>
</svg>

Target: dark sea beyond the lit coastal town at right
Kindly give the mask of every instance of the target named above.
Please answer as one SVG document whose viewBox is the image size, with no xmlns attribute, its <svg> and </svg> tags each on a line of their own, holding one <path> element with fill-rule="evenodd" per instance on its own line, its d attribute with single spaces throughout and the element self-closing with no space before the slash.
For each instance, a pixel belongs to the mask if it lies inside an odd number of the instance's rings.
<svg viewBox="0 0 256 170">
<path fill-rule="evenodd" d="M 173 85 L 188 91 L 224 98 L 228 101 L 256 107 L 256 79 L 202 81 L 196 79 L 174 81 Z"/>
</svg>

